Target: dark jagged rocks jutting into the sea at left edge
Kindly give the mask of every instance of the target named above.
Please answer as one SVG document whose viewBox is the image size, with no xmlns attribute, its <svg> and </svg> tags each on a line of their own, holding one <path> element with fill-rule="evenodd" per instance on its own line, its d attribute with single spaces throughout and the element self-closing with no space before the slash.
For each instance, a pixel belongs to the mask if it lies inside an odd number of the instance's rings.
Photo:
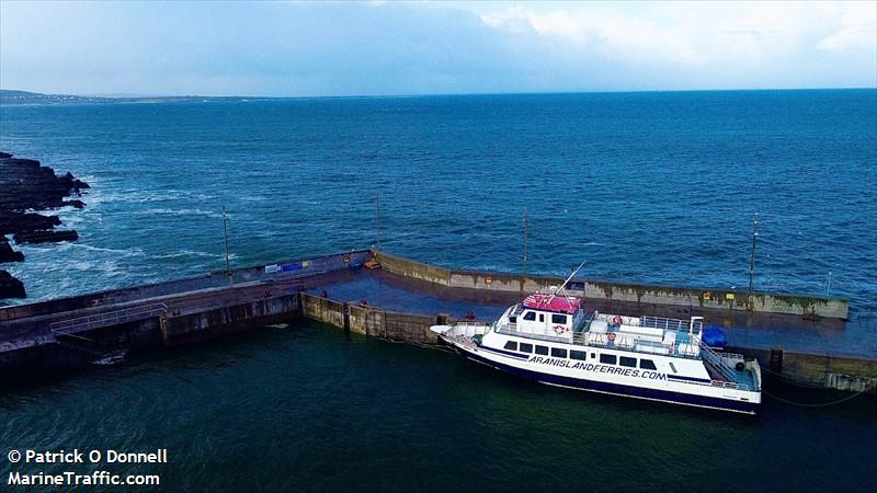
<svg viewBox="0 0 877 493">
<path fill-rule="evenodd" d="M 81 209 L 86 207 L 82 200 L 67 198 L 80 197 L 86 188 L 88 183 L 69 172 L 58 176 L 39 161 L 0 152 L 0 264 L 24 262 L 24 254 L 10 244 L 10 234 L 16 244 L 76 241 L 79 234 L 75 230 L 55 230 L 61 225 L 58 216 L 34 210 L 67 206 Z M 0 270 L 0 300 L 25 297 L 22 282 Z"/>
</svg>

